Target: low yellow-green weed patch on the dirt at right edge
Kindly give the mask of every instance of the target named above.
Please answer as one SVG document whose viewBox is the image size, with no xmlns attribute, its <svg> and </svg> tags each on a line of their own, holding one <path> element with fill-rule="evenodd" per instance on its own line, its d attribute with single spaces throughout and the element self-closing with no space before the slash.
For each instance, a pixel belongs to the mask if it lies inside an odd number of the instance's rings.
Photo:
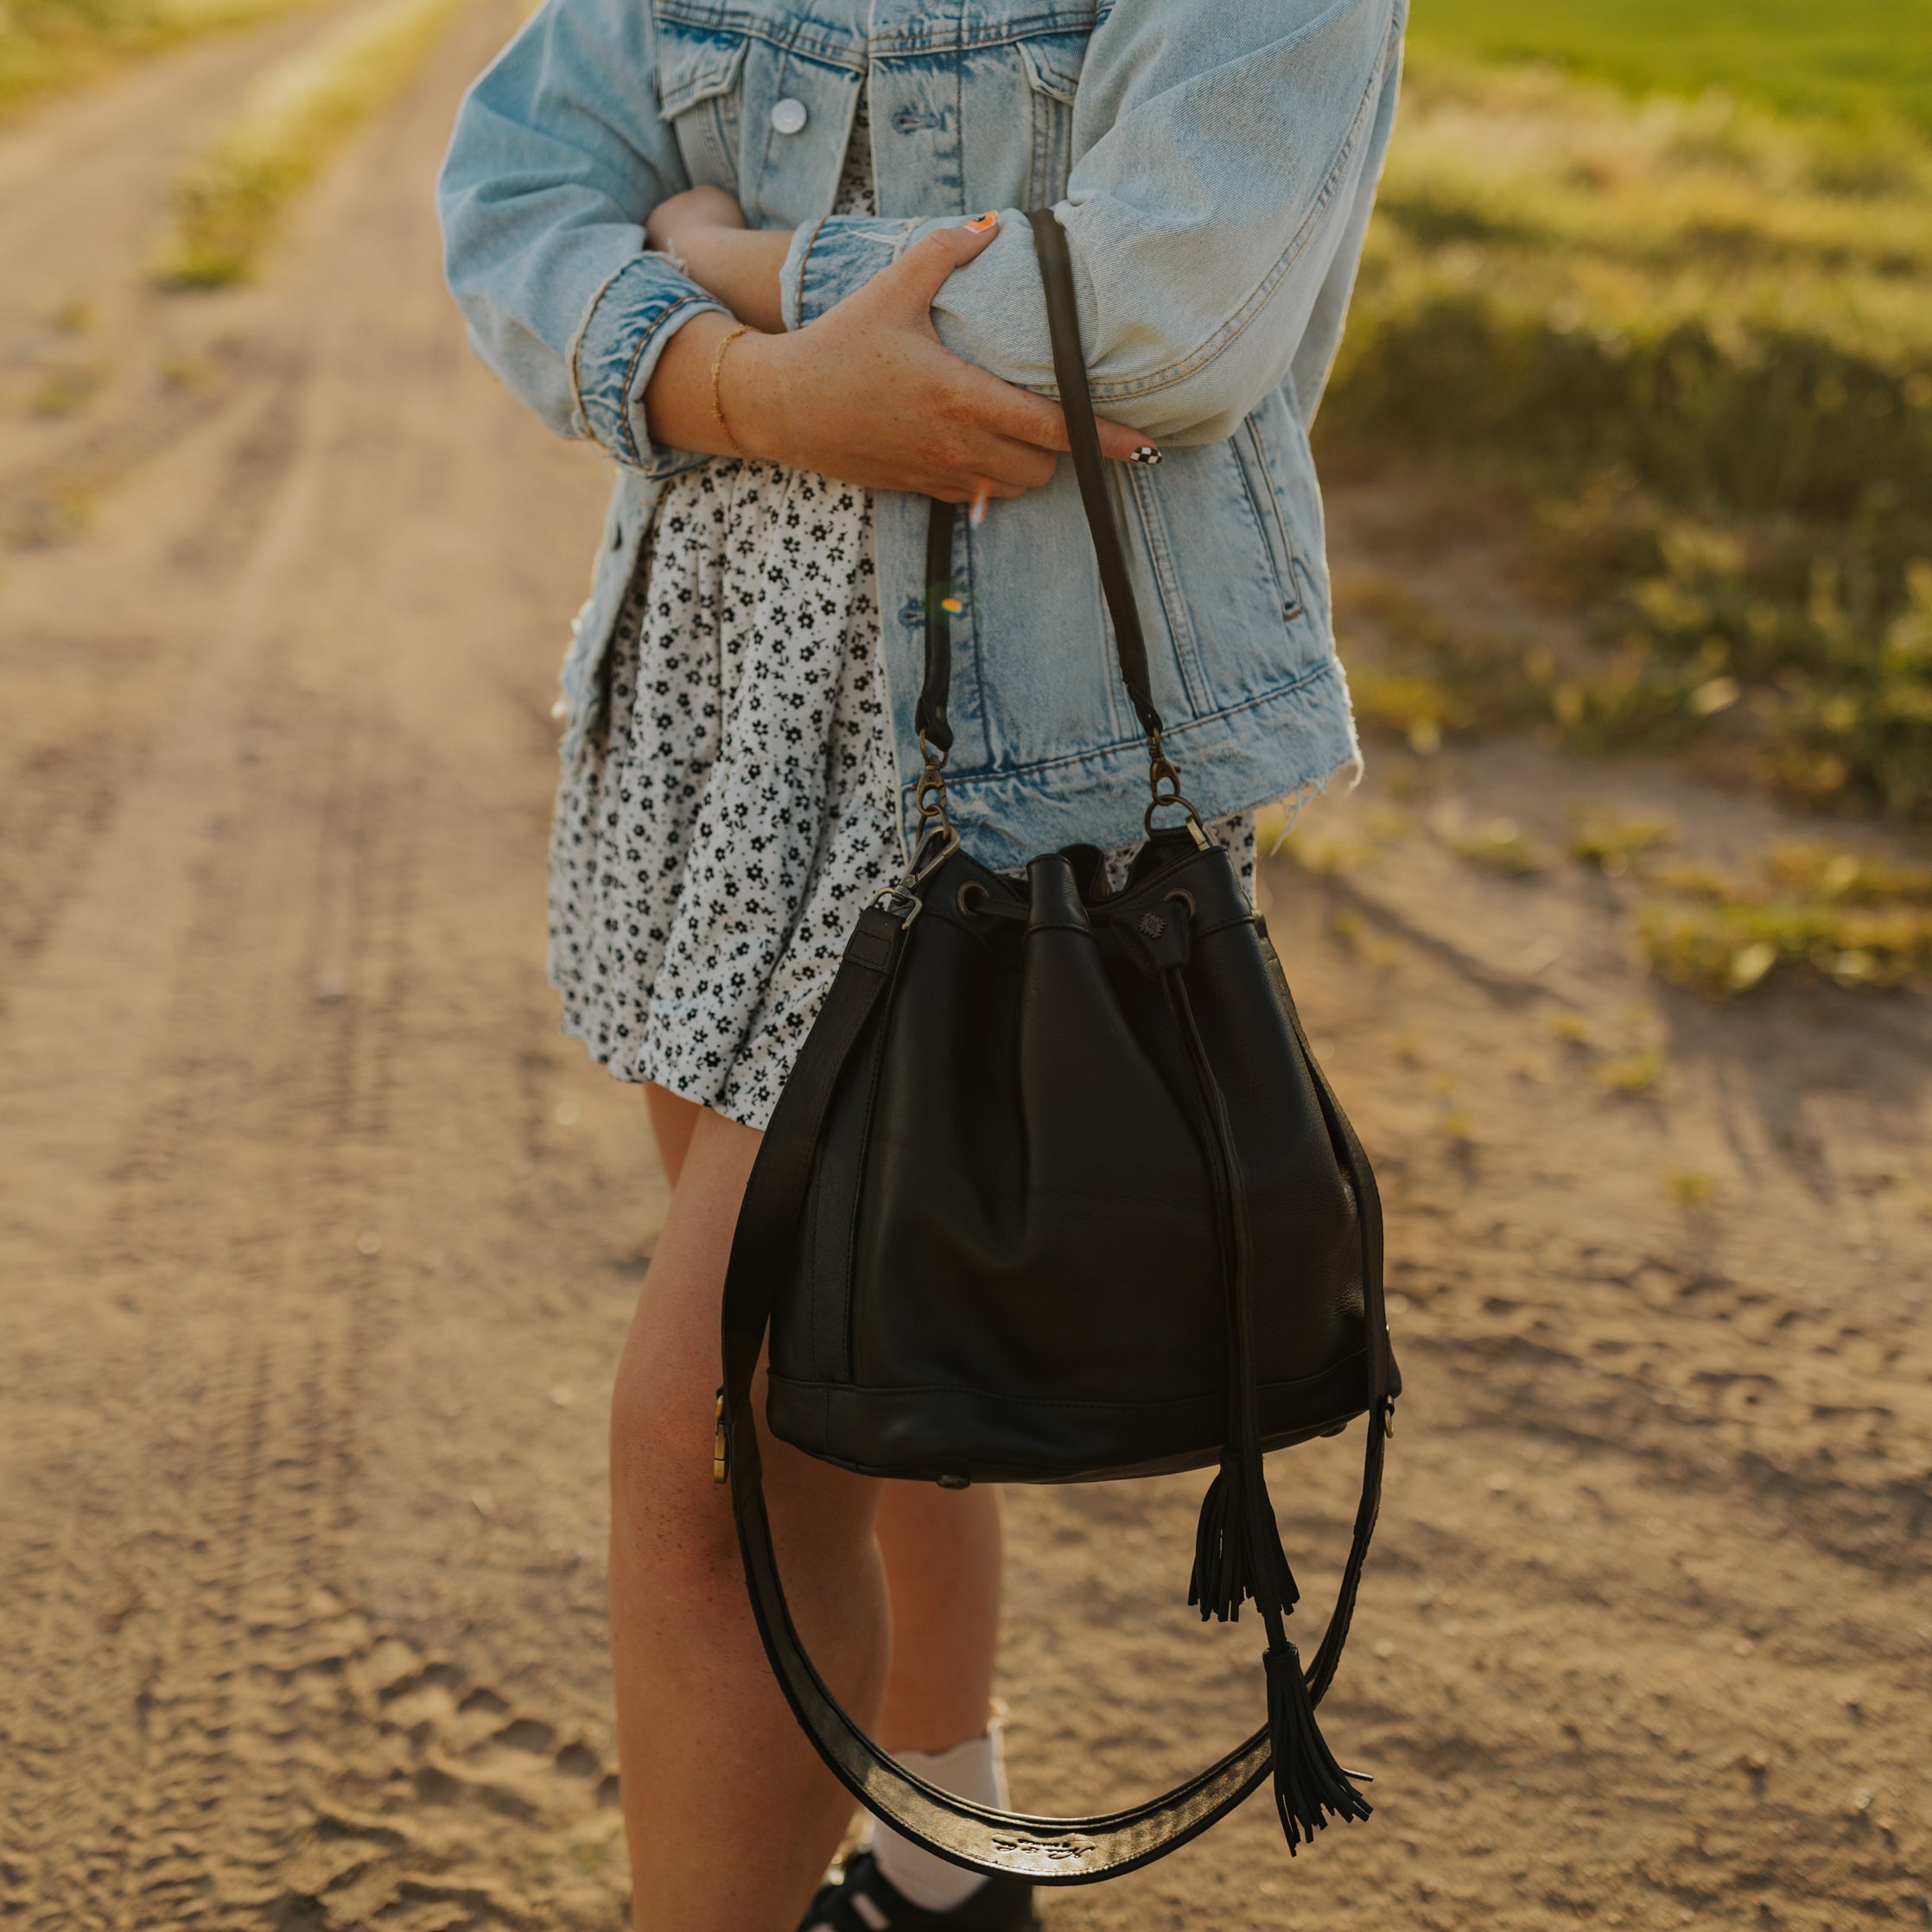
<svg viewBox="0 0 1932 1932">
<path fill-rule="evenodd" d="M 1638 910 L 1638 945 L 1660 978 L 1716 999 L 1777 968 L 1843 987 L 1889 987 L 1932 972 L 1932 873 L 1828 844 L 1777 846 L 1758 879 L 1660 867 L 1671 893 Z"/>
</svg>

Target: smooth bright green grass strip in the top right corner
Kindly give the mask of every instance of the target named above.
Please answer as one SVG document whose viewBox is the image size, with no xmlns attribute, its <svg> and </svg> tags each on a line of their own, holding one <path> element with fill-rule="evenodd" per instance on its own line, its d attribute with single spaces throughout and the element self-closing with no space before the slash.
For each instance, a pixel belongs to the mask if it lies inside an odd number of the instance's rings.
<svg viewBox="0 0 1932 1932">
<path fill-rule="evenodd" d="M 1426 0 L 1410 44 L 1424 56 L 1557 62 L 1642 93 L 1721 87 L 1932 129 L 1926 0 Z"/>
</svg>

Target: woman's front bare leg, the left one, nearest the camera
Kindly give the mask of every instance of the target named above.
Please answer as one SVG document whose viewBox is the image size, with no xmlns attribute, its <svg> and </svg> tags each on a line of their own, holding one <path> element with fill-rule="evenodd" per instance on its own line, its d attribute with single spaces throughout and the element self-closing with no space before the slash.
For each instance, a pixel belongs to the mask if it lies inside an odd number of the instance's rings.
<svg viewBox="0 0 1932 1932">
<path fill-rule="evenodd" d="M 612 1401 L 611 1640 L 638 1932 L 794 1932 L 852 1816 L 773 1683 L 711 1480 L 719 1298 L 757 1140 L 696 1121 Z M 879 1486 L 769 1437 L 761 1451 L 792 1615 L 869 1723 L 891 1650 Z"/>
</svg>

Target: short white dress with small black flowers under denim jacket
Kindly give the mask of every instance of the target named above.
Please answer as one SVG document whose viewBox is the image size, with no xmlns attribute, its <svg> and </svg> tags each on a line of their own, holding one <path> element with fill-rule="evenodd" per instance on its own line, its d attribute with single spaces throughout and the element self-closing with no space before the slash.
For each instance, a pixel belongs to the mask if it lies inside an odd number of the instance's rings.
<svg viewBox="0 0 1932 1932">
<path fill-rule="evenodd" d="M 862 108 L 837 213 L 871 209 Z M 605 728 L 556 798 L 551 983 L 614 1078 L 763 1128 L 904 867 L 871 495 L 719 458 L 670 483 L 645 545 Z M 1254 813 L 1213 831 L 1250 877 Z"/>
</svg>

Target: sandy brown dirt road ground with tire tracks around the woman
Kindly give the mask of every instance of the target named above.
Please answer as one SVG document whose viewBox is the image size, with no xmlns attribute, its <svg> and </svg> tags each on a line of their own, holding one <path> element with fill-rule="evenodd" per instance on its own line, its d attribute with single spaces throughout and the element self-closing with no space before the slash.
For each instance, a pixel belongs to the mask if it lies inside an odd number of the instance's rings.
<svg viewBox="0 0 1932 1932">
<path fill-rule="evenodd" d="M 37 1932 L 618 1924 L 603 1412 L 665 1192 L 541 970 L 603 475 L 435 267 L 506 21 L 249 292 L 153 296 L 141 249 L 305 29 L 0 139 L 0 1918 Z M 1505 746 L 1381 759 L 1310 819 L 1347 862 L 1269 871 L 1391 1208 L 1408 1395 L 1329 1706 L 1378 1814 L 1291 1864 L 1252 1806 L 1063 1932 L 1932 1924 L 1932 1012 L 1660 995 L 1627 885 L 1447 848 L 1578 796 L 1712 856 L 1789 829 Z M 1650 1094 L 1600 1078 L 1650 1049 Z M 1277 1476 L 1312 1600 L 1354 1457 Z M 1012 1497 L 1024 1804 L 1256 1721 L 1252 1633 L 1182 1609 L 1198 1488 Z"/>
</svg>

